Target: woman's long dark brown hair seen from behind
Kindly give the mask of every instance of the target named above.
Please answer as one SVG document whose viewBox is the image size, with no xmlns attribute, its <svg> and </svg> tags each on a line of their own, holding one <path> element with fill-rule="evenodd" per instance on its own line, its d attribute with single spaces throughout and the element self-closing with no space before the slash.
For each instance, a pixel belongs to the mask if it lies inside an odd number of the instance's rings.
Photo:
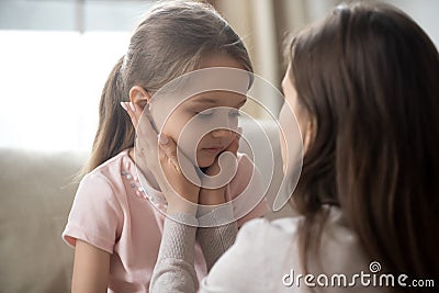
<svg viewBox="0 0 439 293">
<path fill-rule="evenodd" d="M 339 204 L 392 272 L 439 272 L 439 55 L 406 14 L 337 7 L 291 45 L 290 76 L 311 117 L 294 195 L 308 216 Z M 307 236 L 305 235 L 307 234 Z M 305 241 L 311 236 L 304 233 Z"/>
</svg>

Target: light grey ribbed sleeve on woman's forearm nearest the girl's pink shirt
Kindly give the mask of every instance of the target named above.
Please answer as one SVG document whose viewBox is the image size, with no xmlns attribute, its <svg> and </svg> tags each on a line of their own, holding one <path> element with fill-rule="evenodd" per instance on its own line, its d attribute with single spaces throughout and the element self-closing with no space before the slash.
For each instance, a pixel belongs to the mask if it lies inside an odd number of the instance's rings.
<svg viewBox="0 0 439 293">
<path fill-rule="evenodd" d="M 172 217 L 175 219 L 165 219 L 160 250 L 149 284 L 151 293 L 191 293 L 196 292 L 199 286 L 193 264 L 196 219 L 185 214 Z M 193 226 L 182 223 L 191 223 Z"/>
</svg>

